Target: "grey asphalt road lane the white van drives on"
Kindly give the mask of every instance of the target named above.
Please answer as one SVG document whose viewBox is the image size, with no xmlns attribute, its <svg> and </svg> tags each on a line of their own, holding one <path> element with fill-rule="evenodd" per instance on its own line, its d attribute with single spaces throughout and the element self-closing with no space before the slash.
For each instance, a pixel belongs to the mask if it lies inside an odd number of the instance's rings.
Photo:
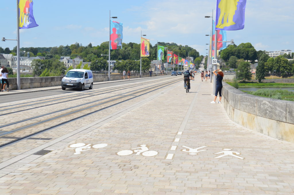
<svg viewBox="0 0 294 195">
<path fill-rule="evenodd" d="M 181 75 L 179 75 L 181 76 Z M 160 78 L 166 78 L 166 77 L 171 77 L 170 75 L 167 76 L 162 76 Z M 153 80 L 153 79 L 158 79 L 158 77 L 147 77 L 146 79 L 139 79 L 139 80 L 126 80 L 122 82 L 113 82 L 113 83 L 105 83 L 105 84 L 98 84 L 94 85 L 93 89 L 98 89 L 98 88 L 103 88 L 103 87 L 111 87 L 111 86 L 116 86 L 116 85 L 122 85 L 122 84 L 131 84 L 135 82 L 141 82 L 141 81 L 148 81 L 148 80 Z M 88 89 L 85 89 L 88 90 Z M 54 96 L 54 95 L 59 95 L 59 94 L 69 94 L 72 92 L 76 92 L 78 90 L 74 89 L 66 89 L 62 90 L 56 89 L 56 90 L 49 90 L 49 91 L 38 91 L 38 92 L 32 92 L 32 93 L 24 93 L 24 94 L 15 94 L 15 95 L 7 95 L 7 96 L 2 96 L 1 97 L 1 103 L 7 103 L 7 102 L 13 102 L 13 101 L 20 101 L 20 100 L 29 100 L 29 99 L 34 99 L 34 98 L 39 98 L 39 97 L 46 97 L 46 96 Z"/>
</svg>

